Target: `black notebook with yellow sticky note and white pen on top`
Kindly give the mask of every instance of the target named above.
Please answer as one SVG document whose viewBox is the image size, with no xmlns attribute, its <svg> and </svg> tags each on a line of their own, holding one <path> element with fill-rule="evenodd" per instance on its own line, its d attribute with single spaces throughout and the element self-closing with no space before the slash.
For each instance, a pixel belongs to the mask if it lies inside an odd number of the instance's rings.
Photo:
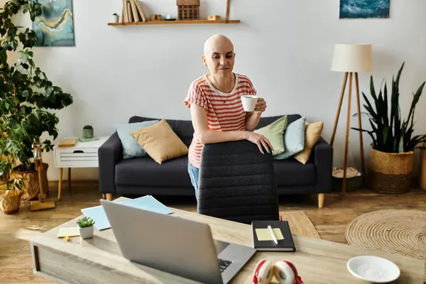
<svg viewBox="0 0 426 284">
<path fill-rule="evenodd" d="M 268 225 L 272 227 L 278 245 L 268 231 Z M 253 234 L 253 247 L 257 251 L 296 251 L 290 226 L 287 221 L 255 220 L 251 222 Z"/>
</svg>

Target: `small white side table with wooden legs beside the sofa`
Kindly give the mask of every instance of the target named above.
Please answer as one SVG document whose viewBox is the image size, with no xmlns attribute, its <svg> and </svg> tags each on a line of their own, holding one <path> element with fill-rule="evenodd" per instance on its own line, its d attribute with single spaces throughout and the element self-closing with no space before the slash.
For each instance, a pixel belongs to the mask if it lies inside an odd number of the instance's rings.
<svg viewBox="0 0 426 284">
<path fill-rule="evenodd" d="M 68 187 L 71 187 L 71 168 L 97 168 L 98 149 L 108 138 L 101 136 L 95 141 L 77 141 L 74 147 L 58 147 L 58 143 L 53 146 L 55 168 L 59 168 L 58 200 L 62 190 L 63 168 L 68 168 Z"/>
</svg>

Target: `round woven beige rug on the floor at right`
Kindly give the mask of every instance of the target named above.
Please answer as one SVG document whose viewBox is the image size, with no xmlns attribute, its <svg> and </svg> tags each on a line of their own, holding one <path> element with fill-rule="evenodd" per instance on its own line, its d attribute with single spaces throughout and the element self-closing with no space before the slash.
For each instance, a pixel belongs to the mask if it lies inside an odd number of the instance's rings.
<svg viewBox="0 0 426 284">
<path fill-rule="evenodd" d="M 426 212 L 420 210 L 386 209 L 363 214 L 349 224 L 345 236 L 351 246 L 426 260 Z"/>
</svg>

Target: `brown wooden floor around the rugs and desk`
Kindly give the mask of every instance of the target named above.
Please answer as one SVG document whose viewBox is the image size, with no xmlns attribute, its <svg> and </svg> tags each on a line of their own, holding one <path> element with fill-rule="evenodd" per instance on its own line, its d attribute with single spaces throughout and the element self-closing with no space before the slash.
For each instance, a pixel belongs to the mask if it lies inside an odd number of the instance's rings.
<svg viewBox="0 0 426 284">
<path fill-rule="evenodd" d="M 57 185 L 50 185 L 50 197 L 56 200 Z M 46 231 L 80 216 L 80 209 L 99 205 L 101 195 L 97 182 L 72 182 L 72 190 L 65 186 L 62 199 L 55 209 L 31 212 L 29 204 L 18 214 L 0 213 L 0 283 L 52 283 L 33 275 L 28 243 L 16 239 L 20 229 Z M 157 197 L 160 202 L 179 209 L 196 211 L 192 197 Z M 379 209 L 413 208 L 426 211 L 426 190 L 412 190 L 405 195 L 377 195 L 366 190 L 326 195 L 324 207 L 317 208 L 317 196 L 290 196 L 280 198 L 280 210 L 302 209 L 312 220 L 322 239 L 346 244 L 344 231 L 354 218 Z"/>
</svg>

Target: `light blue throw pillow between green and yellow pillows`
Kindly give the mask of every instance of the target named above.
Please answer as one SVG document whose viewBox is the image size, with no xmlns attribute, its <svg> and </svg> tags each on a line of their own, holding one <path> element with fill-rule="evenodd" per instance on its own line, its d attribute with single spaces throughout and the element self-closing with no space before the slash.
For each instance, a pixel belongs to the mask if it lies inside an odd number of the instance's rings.
<svg viewBox="0 0 426 284">
<path fill-rule="evenodd" d="M 288 124 L 283 135 L 285 151 L 280 155 L 275 155 L 274 160 L 284 160 L 305 148 L 305 121 L 306 117 L 303 116 Z"/>
</svg>

